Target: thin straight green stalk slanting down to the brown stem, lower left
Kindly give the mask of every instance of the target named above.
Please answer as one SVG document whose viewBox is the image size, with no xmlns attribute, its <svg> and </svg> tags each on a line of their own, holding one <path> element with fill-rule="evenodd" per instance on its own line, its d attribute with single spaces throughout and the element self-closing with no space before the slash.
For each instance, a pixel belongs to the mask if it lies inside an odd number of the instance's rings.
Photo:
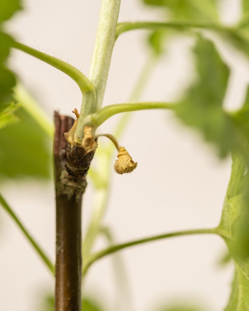
<svg viewBox="0 0 249 311">
<path fill-rule="evenodd" d="M 5 211 L 7 211 L 7 213 L 9 213 L 9 215 L 12 217 L 12 219 L 16 222 L 16 224 L 18 225 L 18 227 L 21 229 L 21 231 L 24 233 L 24 235 L 26 236 L 26 238 L 30 241 L 30 243 L 34 246 L 35 250 L 37 251 L 37 253 L 40 255 L 40 258 L 45 262 L 45 264 L 47 265 L 47 267 L 49 268 L 49 270 L 53 273 L 54 275 L 54 265 L 52 264 L 52 262 L 49 260 L 49 258 L 45 255 L 45 253 L 43 252 L 43 250 L 40 248 L 40 246 L 35 242 L 35 240 L 31 237 L 31 235 L 29 234 L 29 232 L 25 229 L 24 225 L 22 225 L 21 221 L 18 219 L 18 217 L 16 216 L 16 214 L 12 211 L 12 209 L 10 208 L 10 206 L 7 204 L 7 202 L 4 200 L 4 198 L 2 197 L 2 195 L 0 194 L 0 203 L 2 205 L 2 207 L 5 209 Z"/>
</svg>

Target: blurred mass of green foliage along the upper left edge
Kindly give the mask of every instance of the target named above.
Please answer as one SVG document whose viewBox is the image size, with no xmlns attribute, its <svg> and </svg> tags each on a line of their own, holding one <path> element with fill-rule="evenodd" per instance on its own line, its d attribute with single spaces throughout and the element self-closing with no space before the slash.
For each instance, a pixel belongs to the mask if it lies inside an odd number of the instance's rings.
<svg viewBox="0 0 249 311">
<path fill-rule="evenodd" d="M 0 181 L 7 177 L 49 177 L 51 143 L 34 119 L 14 104 L 15 74 L 7 68 L 12 38 L 3 23 L 21 8 L 19 0 L 0 2 Z M 19 108 L 19 109 L 17 109 Z"/>
</svg>

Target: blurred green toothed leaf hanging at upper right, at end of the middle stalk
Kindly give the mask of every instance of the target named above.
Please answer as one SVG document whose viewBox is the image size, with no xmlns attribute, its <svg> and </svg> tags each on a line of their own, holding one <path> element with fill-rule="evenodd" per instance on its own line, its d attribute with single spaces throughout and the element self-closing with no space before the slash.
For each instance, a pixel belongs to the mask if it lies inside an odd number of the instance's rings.
<svg viewBox="0 0 249 311">
<path fill-rule="evenodd" d="M 229 70 L 214 44 L 198 38 L 195 49 L 197 80 L 176 107 L 176 114 L 188 126 L 213 142 L 221 157 L 227 155 L 234 139 L 234 121 L 222 109 Z"/>
</svg>

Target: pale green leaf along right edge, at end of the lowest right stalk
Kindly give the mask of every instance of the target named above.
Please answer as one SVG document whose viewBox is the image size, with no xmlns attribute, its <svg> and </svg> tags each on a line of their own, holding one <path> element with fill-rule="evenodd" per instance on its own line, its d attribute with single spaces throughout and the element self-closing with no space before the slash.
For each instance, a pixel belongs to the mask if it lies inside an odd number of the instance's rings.
<svg viewBox="0 0 249 311">
<path fill-rule="evenodd" d="M 235 261 L 232 292 L 225 311 L 248 311 L 249 243 L 248 243 L 248 160 L 239 153 L 232 154 L 232 172 L 225 196 L 219 230 Z"/>
</svg>

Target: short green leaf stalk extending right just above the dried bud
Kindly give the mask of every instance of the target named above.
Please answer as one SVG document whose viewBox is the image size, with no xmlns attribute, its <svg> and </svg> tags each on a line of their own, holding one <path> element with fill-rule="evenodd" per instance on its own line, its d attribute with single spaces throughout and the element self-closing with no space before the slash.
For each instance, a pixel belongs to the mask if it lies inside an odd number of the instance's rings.
<svg viewBox="0 0 249 311">
<path fill-rule="evenodd" d="M 96 113 L 89 115 L 86 123 L 92 126 L 92 128 L 99 127 L 107 119 L 120 114 L 122 112 L 137 111 L 145 109 L 175 109 L 176 104 L 162 103 L 162 102 L 134 102 L 134 103 L 122 103 L 108 105 L 99 109 Z"/>
</svg>

